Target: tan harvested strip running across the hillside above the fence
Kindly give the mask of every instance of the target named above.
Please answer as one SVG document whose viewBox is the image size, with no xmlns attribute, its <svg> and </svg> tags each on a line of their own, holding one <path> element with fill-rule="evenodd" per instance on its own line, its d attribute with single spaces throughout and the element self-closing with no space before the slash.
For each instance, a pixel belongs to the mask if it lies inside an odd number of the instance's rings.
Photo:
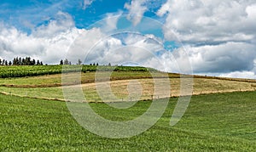
<svg viewBox="0 0 256 152">
<path fill-rule="evenodd" d="M 172 78 L 171 81 L 171 96 L 178 97 L 180 95 L 180 79 Z M 135 82 L 135 83 L 131 83 Z M 135 79 L 135 80 L 118 80 L 111 82 L 97 82 L 97 84 L 107 84 L 111 88 L 111 93 L 115 96 L 108 96 L 108 91 L 102 91 L 103 99 L 107 102 L 113 101 L 131 101 L 131 100 L 148 100 L 166 98 L 165 94 L 154 93 L 154 81 L 152 79 Z M 253 83 L 249 82 L 230 82 L 224 80 L 212 80 L 195 78 L 193 82 L 193 90 L 191 93 L 207 94 L 207 93 L 230 93 L 242 91 L 255 91 L 252 87 Z M 161 84 L 165 85 L 165 84 Z M 70 86 L 79 87 L 79 85 Z M 96 83 L 84 83 L 81 85 L 84 92 L 84 97 L 88 102 L 102 102 L 100 95 L 96 89 Z M 137 88 L 137 92 L 132 93 L 130 88 Z M 136 90 L 136 89 L 135 89 Z M 138 92 L 140 91 L 140 92 Z M 166 90 L 167 91 L 167 90 Z M 35 87 L 35 88 L 18 88 L 18 87 L 0 87 L 1 93 L 13 94 L 22 97 L 31 97 L 38 99 L 58 99 L 63 100 L 62 87 Z M 130 95 L 129 95 L 130 93 Z M 139 94 L 138 94 L 139 93 Z M 133 95 L 133 96 L 132 96 Z M 139 97 L 139 98 L 137 98 Z"/>
</svg>

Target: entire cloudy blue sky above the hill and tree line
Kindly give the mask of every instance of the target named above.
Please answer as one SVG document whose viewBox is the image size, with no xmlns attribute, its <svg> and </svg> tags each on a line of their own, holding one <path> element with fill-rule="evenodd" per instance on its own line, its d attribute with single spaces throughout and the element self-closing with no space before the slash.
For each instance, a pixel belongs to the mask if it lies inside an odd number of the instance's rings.
<svg viewBox="0 0 256 152">
<path fill-rule="evenodd" d="M 256 78 L 254 0 L 1 0 L 0 59 Z"/>
</svg>

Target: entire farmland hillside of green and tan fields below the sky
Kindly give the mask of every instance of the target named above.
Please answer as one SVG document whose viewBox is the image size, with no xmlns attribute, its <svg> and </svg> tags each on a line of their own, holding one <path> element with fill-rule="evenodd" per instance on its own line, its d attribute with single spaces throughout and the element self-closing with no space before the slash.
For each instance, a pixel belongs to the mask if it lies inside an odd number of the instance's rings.
<svg viewBox="0 0 256 152">
<path fill-rule="evenodd" d="M 67 69 L 78 65 L 67 65 Z M 163 94 L 154 93 L 154 81 L 171 84 L 171 96 L 164 115 L 148 129 L 132 138 L 110 139 L 81 127 L 67 109 L 58 72 L 30 75 L 41 68 L 60 70 L 60 65 L 0 66 L 0 151 L 255 151 L 256 83 L 254 80 L 194 76 L 193 96 L 176 126 L 170 126 L 172 111 L 180 95 L 179 74 L 162 73 L 141 67 L 119 70 L 69 70 L 63 75 L 67 87 L 82 87 L 86 101 L 98 115 L 113 121 L 129 121 L 143 115 Z M 86 66 L 83 66 L 83 68 Z M 91 66 L 93 67 L 93 66 Z M 13 70 L 10 70 L 12 69 Z M 20 70 L 15 70 L 20 68 Z M 22 69 L 23 68 L 23 69 Z M 29 70 L 31 68 L 31 70 Z M 37 69 L 38 68 L 38 69 Z M 59 68 L 59 69 L 58 69 Z M 94 67 L 95 68 L 95 67 Z M 27 71 L 25 71 L 27 70 Z M 80 69 L 81 70 L 81 69 Z M 4 75 L 16 71 L 20 76 Z M 24 72 L 25 71 L 25 72 Z M 2 74 L 1 74 L 2 72 Z M 8 73 L 8 72 L 7 72 Z M 11 72 L 10 72 L 11 73 Z M 13 72 L 14 73 L 14 72 Z M 22 73 L 26 73 L 24 76 Z M 155 77 L 154 77 L 154 76 Z M 7 76 L 7 77 L 4 77 Z M 81 76 L 81 86 L 76 76 Z M 98 76 L 98 77 L 97 77 Z M 104 78 L 106 77 L 107 78 Z M 166 77 L 167 76 L 167 77 Z M 98 78 L 102 79 L 98 79 Z M 153 79 L 154 77 L 154 79 Z M 108 81 L 110 80 L 110 81 Z M 97 87 L 108 84 L 117 99 L 104 102 L 131 101 L 129 93 L 139 93 L 137 104 L 129 109 L 114 109 L 102 103 Z M 132 87 L 133 90 L 129 90 Z M 134 89 L 136 88 L 136 89 Z M 169 90 L 166 90 L 167 92 Z M 104 92 L 104 91 L 103 91 Z M 103 93 L 104 94 L 104 93 Z M 114 133 L 114 132 L 113 132 Z"/>
</svg>

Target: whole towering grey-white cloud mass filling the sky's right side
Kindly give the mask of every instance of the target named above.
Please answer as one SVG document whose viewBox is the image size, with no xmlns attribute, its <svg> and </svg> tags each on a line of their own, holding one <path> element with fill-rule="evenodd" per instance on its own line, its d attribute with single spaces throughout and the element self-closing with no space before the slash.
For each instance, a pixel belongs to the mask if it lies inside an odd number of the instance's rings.
<svg viewBox="0 0 256 152">
<path fill-rule="evenodd" d="M 166 39 L 187 48 L 195 73 L 255 77 L 255 8 L 252 0 L 167 0 L 157 14 L 166 17 Z"/>
</svg>

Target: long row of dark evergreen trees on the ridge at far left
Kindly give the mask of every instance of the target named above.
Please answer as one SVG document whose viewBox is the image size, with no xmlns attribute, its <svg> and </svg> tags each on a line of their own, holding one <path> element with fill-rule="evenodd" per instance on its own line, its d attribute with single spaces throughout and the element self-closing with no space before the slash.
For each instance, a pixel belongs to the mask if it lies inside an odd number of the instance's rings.
<svg viewBox="0 0 256 152">
<path fill-rule="evenodd" d="M 36 59 L 32 59 L 31 57 L 26 58 L 18 58 L 16 57 L 12 61 L 8 61 L 7 59 L 0 59 L 0 65 L 44 65 L 42 61 Z"/>
</svg>

